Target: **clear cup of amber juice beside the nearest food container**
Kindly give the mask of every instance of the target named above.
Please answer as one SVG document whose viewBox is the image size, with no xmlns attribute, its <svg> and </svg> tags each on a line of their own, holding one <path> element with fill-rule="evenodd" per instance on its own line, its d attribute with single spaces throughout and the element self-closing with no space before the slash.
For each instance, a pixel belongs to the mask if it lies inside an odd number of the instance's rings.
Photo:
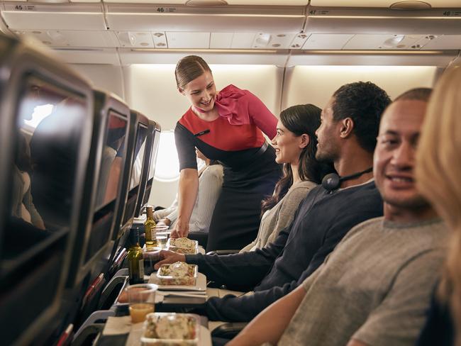
<svg viewBox="0 0 461 346">
<path fill-rule="evenodd" d="M 155 284 L 136 284 L 126 288 L 132 323 L 143 322 L 148 313 L 154 312 L 157 288 Z"/>
</svg>

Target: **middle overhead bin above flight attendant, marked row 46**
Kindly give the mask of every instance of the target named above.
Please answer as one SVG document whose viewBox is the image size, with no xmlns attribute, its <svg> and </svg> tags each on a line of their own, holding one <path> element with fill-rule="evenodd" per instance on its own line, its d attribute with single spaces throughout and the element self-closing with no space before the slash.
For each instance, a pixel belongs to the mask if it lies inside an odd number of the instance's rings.
<svg viewBox="0 0 461 346">
<path fill-rule="evenodd" d="M 106 4 L 110 30 L 300 33 L 306 6 Z"/>
</svg>

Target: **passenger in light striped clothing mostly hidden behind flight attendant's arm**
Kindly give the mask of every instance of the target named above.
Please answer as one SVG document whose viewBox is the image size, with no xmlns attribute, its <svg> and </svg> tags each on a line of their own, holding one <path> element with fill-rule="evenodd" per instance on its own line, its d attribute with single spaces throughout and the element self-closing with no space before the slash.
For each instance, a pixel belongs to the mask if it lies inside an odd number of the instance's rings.
<svg viewBox="0 0 461 346">
<path fill-rule="evenodd" d="M 204 160 L 205 167 L 199 176 L 199 193 L 197 194 L 194 209 L 192 210 L 189 220 L 189 232 L 206 233 L 210 228 L 211 216 L 213 215 L 216 201 L 218 201 L 218 197 L 221 194 L 221 186 L 223 185 L 223 166 L 218 164 L 217 161 L 205 157 L 198 149 L 196 149 L 196 155 L 199 159 Z M 160 219 L 159 222 L 160 224 L 164 223 L 174 228 L 175 222 L 177 221 L 177 203 L 175 208 L 168 209 L 170 213 Z M 164 210 L 165 209 L 162 209 L 160 212 Z M 157 218 L 158 215 L 161 214 L 157 213 Z M 189 238 L 193 237 L 189 234 Z"/>
</svg>

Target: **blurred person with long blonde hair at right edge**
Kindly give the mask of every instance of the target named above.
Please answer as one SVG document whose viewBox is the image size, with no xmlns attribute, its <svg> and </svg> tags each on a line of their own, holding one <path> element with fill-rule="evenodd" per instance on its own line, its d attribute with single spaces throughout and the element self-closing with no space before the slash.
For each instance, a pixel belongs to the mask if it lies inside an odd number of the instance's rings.
<svg viewBox="0 0 461 346">
<path fill-rule="evenodd" d="M 418 346 L 461 345 L 460 94 L 461 67 L 455 67 L 435 86 L 416 157 L 418 188 L 452 231 L 448 259 Z"/>
</svg>

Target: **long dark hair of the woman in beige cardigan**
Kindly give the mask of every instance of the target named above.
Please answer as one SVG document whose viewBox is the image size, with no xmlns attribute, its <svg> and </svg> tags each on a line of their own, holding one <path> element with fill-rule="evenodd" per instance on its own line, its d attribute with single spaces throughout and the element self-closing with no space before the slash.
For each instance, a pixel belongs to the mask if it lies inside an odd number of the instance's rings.
<svg viewBox="0 0 461 346">
<path fill-rule="evenodd" d="M 316 160 L 316 130 L 320 126 L 320 113 L 321 108 L 313 104 L 292 106 L 280 113 L 280 121 L 287 130 L 296 136 L 304 133 L 309 135 L 309 144 L 304 147 L 299 155 L 298 174 L 301 181 L 310 180 L 316 184 L 320 184 L 326 174 L 335 172 L 333 164 Z M 293 172 L 291 172 L 291 165 L 285 163 L 283 165 L 283 177 L 275 184 L 274 194 L 262 201 L 261 215 L 279 203 L 292 184 Z"/>
</svg>

